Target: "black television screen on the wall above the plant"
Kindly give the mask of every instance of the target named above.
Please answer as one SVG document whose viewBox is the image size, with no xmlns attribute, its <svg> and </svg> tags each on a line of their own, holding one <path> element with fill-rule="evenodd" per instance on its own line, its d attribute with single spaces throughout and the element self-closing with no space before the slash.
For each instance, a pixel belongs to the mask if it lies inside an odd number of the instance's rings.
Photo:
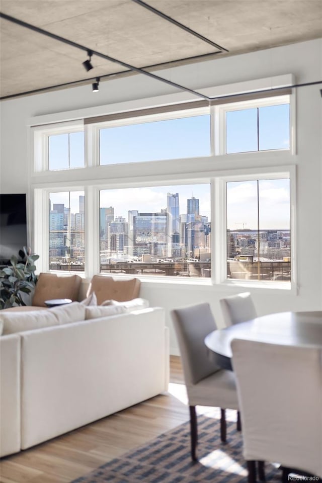
<svg viewBox="0 0 322 483">
<path fill-rule="evenodd" d="M 0 264 L 8 265 L 27 246 L 27 216 L 25 194 L 0 195 Z"/>
</svg>

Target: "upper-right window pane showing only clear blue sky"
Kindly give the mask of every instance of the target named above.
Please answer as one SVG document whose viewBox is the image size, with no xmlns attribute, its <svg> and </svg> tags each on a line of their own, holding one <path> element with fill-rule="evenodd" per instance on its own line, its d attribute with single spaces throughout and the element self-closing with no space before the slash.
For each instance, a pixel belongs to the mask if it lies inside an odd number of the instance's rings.
<svg viewBox="0 0 322 483">
<path fill-rule="evenodd" d="M 267 101 L 266 101 L 267 103 Z M 226 110 L 227 154 L 290 148 L 290 105 L 283 104 Z M 248 103 L 250 104 L 250 103 Z M 254 104 L 254 103 L 253 103 Z"/>
</svg>

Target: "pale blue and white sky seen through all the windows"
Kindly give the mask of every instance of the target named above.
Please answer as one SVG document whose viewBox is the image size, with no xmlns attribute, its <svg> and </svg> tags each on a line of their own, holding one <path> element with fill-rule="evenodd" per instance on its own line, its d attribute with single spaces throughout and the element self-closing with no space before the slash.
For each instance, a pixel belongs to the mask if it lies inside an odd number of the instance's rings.
<svg viewBox="0 0 322 483">
<path fill-rule="evenodd" d="M 289 105 L 227 113 L 227 152 L 289 148 Z M 259 125 L 259 131 L 257 131 Z M 118 164 L 156 159 L 210 155 L 210 116 L 101 129 L 100 162 Z M 49 137 L 49 168 L 84 166 L 84 133 Z M 210 185 L 179 185 L 101 191 L 100 206 L 114 207 L 115 216 L 127 219 L 128 210 L 159 212 L 167 206 L 167 193 L 179 193 L 180 213 L 187 199 L 200 200 L 200 214 L 210 220 Z M 260 181 L 260 228 L 289 228 L 289 180 Z M 64 203 L 78 212 L 82 192 L 51 194 L 52 203 Z M 130 200 L 130 201 L 128 201 Z M 227 227 L 257 229 L 257 182 L 227 185 Z"/>
</svg>

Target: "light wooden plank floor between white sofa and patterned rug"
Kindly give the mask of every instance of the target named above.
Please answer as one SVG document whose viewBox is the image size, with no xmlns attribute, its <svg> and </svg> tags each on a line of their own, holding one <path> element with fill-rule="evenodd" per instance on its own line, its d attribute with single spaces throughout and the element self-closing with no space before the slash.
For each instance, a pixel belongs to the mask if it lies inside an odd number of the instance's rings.
<svg viewBox="0 0 322 483">
<path fill-rule="evenodd" d="M 179 357 L 169 393 L 0 461 L 1 483 L 67 483 L 189 419 Z"/>
</svg>

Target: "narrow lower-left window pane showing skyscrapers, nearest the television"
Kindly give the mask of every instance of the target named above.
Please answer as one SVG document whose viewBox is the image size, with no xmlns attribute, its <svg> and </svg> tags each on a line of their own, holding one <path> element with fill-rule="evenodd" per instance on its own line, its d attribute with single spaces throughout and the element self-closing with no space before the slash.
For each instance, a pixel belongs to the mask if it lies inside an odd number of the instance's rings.
<svg viewBox="0 0 322 483">
<path fill-rule="evenodd" d="M 49 193 L 49 269 L 85 267 L 84 191 Z"/>
</svg>

